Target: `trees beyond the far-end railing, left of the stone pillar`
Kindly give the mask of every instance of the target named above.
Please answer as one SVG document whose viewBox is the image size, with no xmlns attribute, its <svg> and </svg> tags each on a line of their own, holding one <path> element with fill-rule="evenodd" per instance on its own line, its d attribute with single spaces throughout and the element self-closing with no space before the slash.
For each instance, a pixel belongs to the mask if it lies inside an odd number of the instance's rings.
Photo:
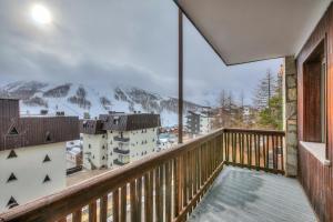
<svg viewBox="0 0 333 222">
<path fill-rule="evenodd" d="M 252 104 L 244 104 L 241 91 L 235 98 L 231 91 L 221 90 L 219 108 L 213 111 L 214 128 L 272 129 L 282 130 L 282 77 L 268 70 L 254 89 Z"/>
</svg>

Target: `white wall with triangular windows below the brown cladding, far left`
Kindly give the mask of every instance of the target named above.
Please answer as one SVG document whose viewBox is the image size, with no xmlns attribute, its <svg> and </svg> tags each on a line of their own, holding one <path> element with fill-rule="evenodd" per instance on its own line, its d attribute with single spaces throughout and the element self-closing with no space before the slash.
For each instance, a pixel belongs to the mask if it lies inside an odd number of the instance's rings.
<svg viewBox="0 0 333 222">
<path fill-rule="evenodd" d="M 27 147 L 14 150 L 17 158 L 8 159 L 9 150 L 0 152 L 0 212 L 7 210 L 11 196 L 19 204 L 65 188 L 65 143 Z M 43 162 L 46 155 L 51 161 Z M 17 180 L 8 182 L 13 173 Z M 43 182 L 46 175 L 50 181 Z"/>
</svg>

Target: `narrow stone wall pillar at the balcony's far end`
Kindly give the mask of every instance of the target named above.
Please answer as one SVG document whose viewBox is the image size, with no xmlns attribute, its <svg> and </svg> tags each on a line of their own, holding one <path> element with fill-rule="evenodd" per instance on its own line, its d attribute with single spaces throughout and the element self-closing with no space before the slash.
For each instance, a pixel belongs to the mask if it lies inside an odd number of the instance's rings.
<svg viewBox="0 0 333 222">
<path fill-rule="evenodd" d="M 284 58 L 285 174 L 297 175 L 297 72 L 294 57 Z"/>
</svg>

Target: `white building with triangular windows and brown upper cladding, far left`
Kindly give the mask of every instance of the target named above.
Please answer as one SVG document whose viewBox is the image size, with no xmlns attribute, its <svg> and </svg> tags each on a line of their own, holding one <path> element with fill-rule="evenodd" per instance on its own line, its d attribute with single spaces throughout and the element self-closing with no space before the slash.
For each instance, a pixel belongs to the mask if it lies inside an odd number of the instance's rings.
<svg viewBox="0 0 333 222">
<path fill-rule="evenodd" d="M 79 119 L 19 117 L 19 101 L 0 99 L 0 212 L 65 188 L 65 141 Z"/>
</svg>

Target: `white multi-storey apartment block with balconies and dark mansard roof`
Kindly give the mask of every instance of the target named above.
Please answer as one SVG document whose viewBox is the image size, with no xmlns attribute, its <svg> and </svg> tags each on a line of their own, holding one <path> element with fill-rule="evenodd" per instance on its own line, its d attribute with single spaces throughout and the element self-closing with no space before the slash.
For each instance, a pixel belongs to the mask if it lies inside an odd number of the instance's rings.
<svg viewBox="0 0 333 222">
<path fill-rule="evenodd" d="M 83 167 L 117 168 L 157 151 L 159 114 L 110 113 L 83 120 Z"/>
</svg>

